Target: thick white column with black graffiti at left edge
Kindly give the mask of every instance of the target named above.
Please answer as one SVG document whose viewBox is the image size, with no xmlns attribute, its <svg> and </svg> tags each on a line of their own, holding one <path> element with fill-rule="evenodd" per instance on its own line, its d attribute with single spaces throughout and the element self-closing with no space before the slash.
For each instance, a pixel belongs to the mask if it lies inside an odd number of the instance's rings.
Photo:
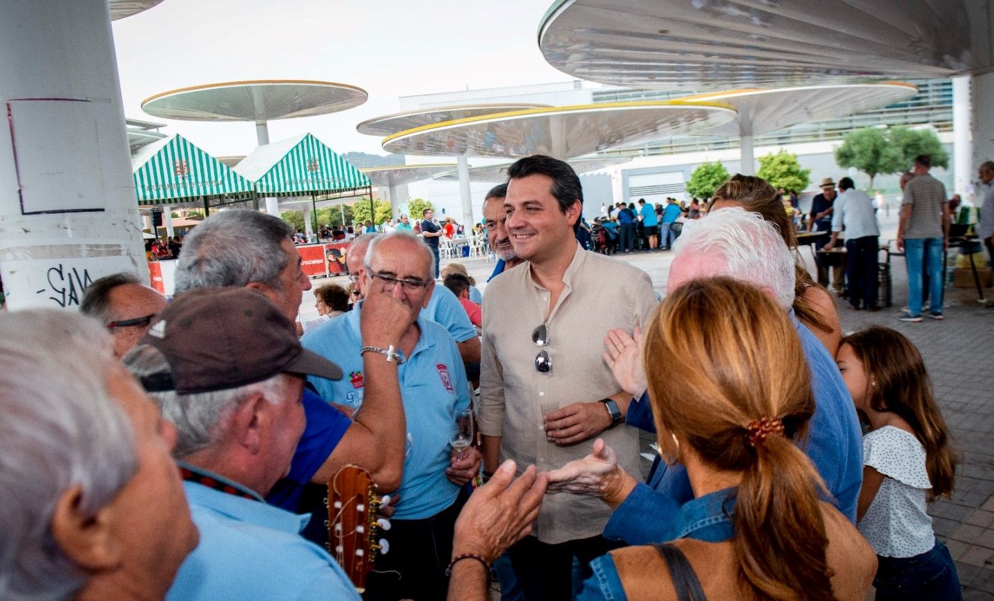
<svg viewBox="0 0 994 601">
<path fill-rule="evenodd" d="M 0 274 L 10 309 L 148 281 L 106 0 L 0 0 Z"/>
</svg>

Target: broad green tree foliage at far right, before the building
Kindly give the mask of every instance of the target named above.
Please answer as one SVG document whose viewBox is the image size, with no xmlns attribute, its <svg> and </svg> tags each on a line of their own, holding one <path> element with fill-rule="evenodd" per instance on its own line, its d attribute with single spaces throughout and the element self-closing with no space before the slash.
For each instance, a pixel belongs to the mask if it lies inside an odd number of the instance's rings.
<svg viewBox="0 0 994 601">
<path fill-rule="evenodd" d="M 933 167 L 949 166 L 949 155 L 934 132 L 901 126 L 866 127 L 847 133 L 842 146 L 835 149 L 835 162 L 870 176 L 873 188 L 875 177 L 908 171 L 919 154 L 930 155 Z"/>
</svg>

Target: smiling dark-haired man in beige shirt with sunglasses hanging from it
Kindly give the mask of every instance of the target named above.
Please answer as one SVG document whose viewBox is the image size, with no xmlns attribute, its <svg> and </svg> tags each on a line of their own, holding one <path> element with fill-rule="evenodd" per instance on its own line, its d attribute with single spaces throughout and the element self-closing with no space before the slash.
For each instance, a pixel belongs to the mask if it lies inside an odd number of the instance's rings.
<svg viewBox="0 0 994 601">
<path fill-rule="evenodd" d="M 487 287 L 479 429 L 485 471 L 500 459 L 540 472 L 583 457 L 602 437 L 638 473 L 638 434 L 624 424 L 630 395 L 602 358 L 611 329 L 631 332 L 656 305 L 649 276 L 580 248 L 580 179 L 563 161 L 519 160 L 509 170 L 507 229 L 527 262 Z M 594 498 L 546 497 L 533 530 L 509 551 L 525 599 L 570 599 L 576 555 L 584 570 L 609 547 L 609 511 Z"/>
</svg>

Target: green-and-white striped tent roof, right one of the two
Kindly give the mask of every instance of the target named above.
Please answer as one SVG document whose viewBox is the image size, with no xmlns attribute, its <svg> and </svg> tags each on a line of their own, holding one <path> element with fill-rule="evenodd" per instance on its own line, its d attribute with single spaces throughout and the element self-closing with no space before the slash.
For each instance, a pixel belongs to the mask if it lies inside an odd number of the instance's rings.
<svg viewBox="0 0 994 601">
<path fill-rule="evenodd" d="M 235 167 L 259 196 L 311 196 L 369 188 L 370 179 L 312 134 L 259 146 Z"/>
</svg>

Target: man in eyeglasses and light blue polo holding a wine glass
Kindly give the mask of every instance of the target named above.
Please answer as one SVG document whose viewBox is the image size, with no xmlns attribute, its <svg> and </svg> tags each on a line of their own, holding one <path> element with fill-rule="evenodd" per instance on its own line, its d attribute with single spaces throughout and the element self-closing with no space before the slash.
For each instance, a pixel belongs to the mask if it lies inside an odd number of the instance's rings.
<svg viewBox="0 0 994 601">
<path fill-rule="evenodd" d="M 324 398 L 343 399 L 362 415 L 365 356 L 386 356 L 398 365 L 407 418 L 408 446 L 400 501 L 383 532 L 390 553 L 377 558 L 367 579 L 367 599 L 443 599 L 444 571 L 452 551 L 455 518 L 465 498 L 460 488 L 478 472 L 480 453 L 450 448 L 456 410 L 469 407 L 469 387 L 455 342 L 441 325 L 426 319 L 435 286 L 434 257 L 414 234 L 396 231 L 369 242 L 359 285 L 368 294 L 381 283 L 408 308 L 405 329 L 396 346 L 367 346 L 359 335 L 367 316 L 351 311 L 301 339 L 305 349 L 341 366 L 340 380 L 309 377 Z M 461 310 L 461 307 L 460 307 Z"/>
</svg>

